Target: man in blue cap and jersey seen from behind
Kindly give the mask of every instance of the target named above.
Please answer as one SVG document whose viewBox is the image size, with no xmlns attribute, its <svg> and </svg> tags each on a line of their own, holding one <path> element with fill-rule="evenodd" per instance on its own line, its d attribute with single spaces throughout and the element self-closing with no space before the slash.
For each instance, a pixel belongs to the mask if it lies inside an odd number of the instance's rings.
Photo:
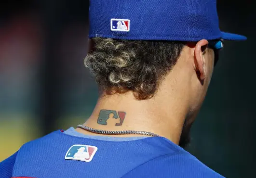
<svg viewBox="0 0 256 178">
<path fill-rule="evenodd" d="M 219 30 L 216 0 L 92 0 L 89 14 L 93 113 L 23 145 L 1 178 L 222 178 L 182 148 L 222 41 L 246 39 Z"/>
</svg>

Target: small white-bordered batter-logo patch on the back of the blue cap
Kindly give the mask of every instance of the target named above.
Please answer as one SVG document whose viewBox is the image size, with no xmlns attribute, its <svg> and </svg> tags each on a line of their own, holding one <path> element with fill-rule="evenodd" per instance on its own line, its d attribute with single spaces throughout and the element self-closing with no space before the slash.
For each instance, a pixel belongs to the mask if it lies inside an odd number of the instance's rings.
<svg viewBox="0 0 256 178">
<path fill-rule="evenodd" d="M 130 31 L 130 20 L 128 19 L 111 19 L 111 30 L 129 32 Z"/>
</svg>

